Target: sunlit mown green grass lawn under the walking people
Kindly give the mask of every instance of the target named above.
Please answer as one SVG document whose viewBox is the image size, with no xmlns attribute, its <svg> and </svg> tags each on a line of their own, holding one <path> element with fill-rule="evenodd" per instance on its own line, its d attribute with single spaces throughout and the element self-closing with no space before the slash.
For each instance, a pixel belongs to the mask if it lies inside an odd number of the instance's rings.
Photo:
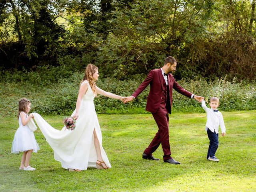
<svg viewBox="0 0 256 192">
<path fill-rule="evenodd" d="M 219 137 L 216 156 L 220 162 L 206 160 L 205 113 L 170 116 L 172 156 L 180 165 L 164 163 L 161 146 L 154 153 L 161 161 L 142 159 L 157 132 L 151 114 L 98 115 L 112 168 L 82 172 L 61 168 L 40 130 L 34 132 L 40 150 L 30 160 L 36 170 L 19 170 L 22 154 L 10 153 L 18 120 L 1 118 L 0 191 L 256 191 L 256 111 L 222 114 L 227 134 Z M 43 117 L 52 126 L 62 127 L 63 116 Z"/>
</svg>

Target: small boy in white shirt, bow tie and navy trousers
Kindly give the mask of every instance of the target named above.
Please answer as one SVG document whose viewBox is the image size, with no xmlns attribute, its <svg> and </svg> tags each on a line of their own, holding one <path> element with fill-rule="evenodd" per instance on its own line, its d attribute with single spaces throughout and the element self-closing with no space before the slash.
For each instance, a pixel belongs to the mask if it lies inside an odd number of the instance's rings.
<svg viewBox="0 0 256 192">
<path fill-rule="evenodd" d="M 202 108 L 206 112 L 207 121 L 206 121 L 206 127 L 205 130 L 207 132 L 208 138 L 210 140 L 210 145 L 208 148 L 208 153 L 206 159 L 211 161 L 219 161 L 219 159 L 216 158 L 215 152 L 218 148 L 219 141 L 219 126 L 221 128 L 222 136 L 225 136 L 226 134 L 226 127 L 224 125 L 224 120 L 222 117 L 221 112 L 218 111 L 218 106 L 220 104 L 220 101 L 217 97 L 210 98 L 210 107 L 207 108 L 204 100 L 202 101 Z"/>
</svg>

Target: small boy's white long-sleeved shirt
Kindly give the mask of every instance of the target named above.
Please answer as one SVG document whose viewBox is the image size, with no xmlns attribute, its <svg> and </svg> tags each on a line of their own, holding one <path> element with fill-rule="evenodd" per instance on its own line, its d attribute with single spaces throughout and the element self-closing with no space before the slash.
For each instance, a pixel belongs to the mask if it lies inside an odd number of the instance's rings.
<svg viewBox="0 0 256 192">
<path fill-rule="evenodd" d="M 207 116 L 207 121 L 206 121 L 206 128 L 205 130 L 207 131 L 207 128 L 211 130 L 211 132 L 217 134 L 219 133 L 219 126 L 221 128 L 222 133 L 226 133 L 226 127 L 224 125 L 224 120 L 221 112 L 214 112 L 212 108 L 208 108 L 204 102 L 202 101 L 202 108 L 206 112 Z"/>
</svg>

